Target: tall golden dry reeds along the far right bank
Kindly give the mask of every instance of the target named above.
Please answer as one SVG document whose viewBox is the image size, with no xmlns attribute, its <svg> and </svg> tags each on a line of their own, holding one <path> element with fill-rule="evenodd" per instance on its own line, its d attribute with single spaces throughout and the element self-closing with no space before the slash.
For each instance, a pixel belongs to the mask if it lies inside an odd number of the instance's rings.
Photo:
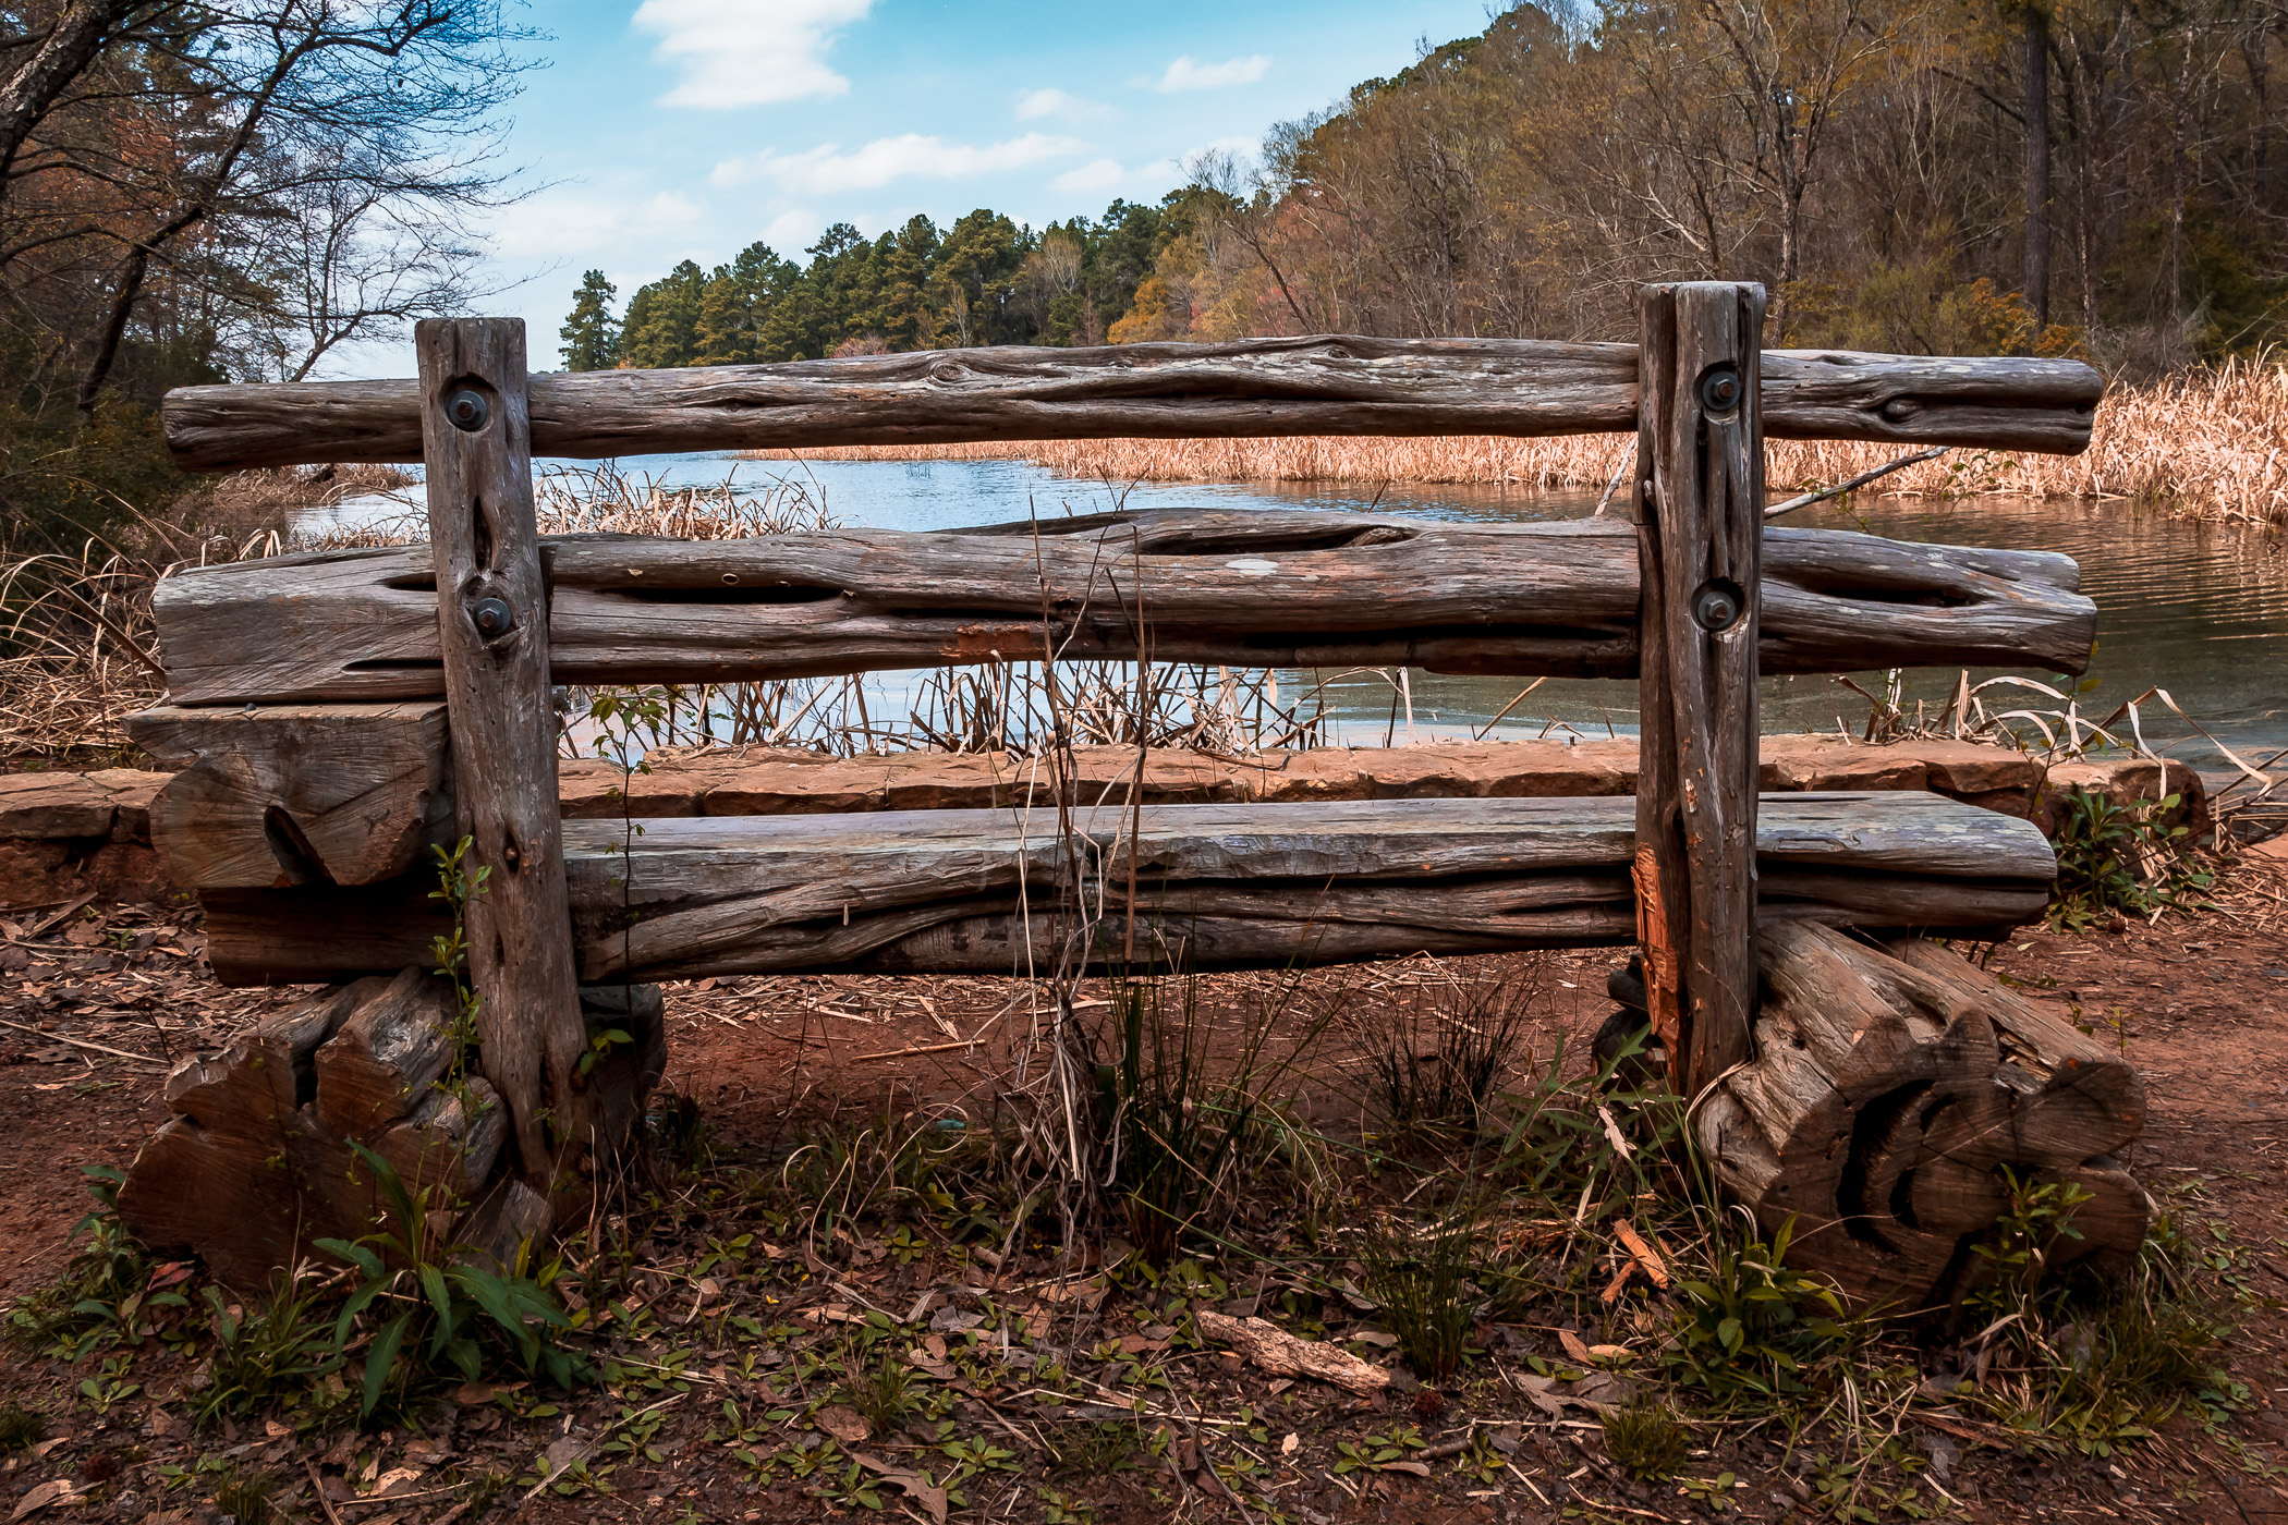
<svg viewBox="0 0 2288 1525">
<path fill-rule="evenodd" d="M 1506 439 L 1059 439 L 1041 444 L 844 446 L 805 460 L 1004 460 L 1114 482 L 1480 482 L 1604 487 L 1634 453 L 1627 434 Z M 785 460 L 789 453 L 762 453 Z M 1773 492 L 1808 492 L 1881 466 L 1899 446 L 1771 441 Z M 2288 524 L 2288 364 L 2226 361 L 2119 386 L 2082 455 L 1954 450 L 1883 480 L 1885 496 L 2027 494 L 2135 498 L 2203 519 Z"/>
</svg>

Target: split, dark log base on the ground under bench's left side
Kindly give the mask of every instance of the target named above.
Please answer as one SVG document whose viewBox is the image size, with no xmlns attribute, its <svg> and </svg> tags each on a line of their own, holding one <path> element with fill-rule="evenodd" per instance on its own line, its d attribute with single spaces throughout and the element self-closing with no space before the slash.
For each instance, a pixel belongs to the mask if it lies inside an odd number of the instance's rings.
<svg viewBox="0 0 2288 1525">
<path fill-rule="evenodd" d="M 620 1029 L 586 1077 L 611 1148 L 666 1070 L 657 985 L 581 990 L 590 1031 Z M 128 1168 L 119 1216 L 158 1251 L 190 1251 L 224 1283 L 261 1290 L 316 1239 L 359 1239 L 384 1214 L 352 1143 L 407 1191 L 451 1214 L 451 1241 L 515 1257 L 549 1223 L 508 1173 L 508 1111 L 474 1070 L 446 1084 L 453 988 L 423 969 L 336 985 L 263 1020 L 220 1054 L 167 1077 L 169 1118 Z"/>
</svg>

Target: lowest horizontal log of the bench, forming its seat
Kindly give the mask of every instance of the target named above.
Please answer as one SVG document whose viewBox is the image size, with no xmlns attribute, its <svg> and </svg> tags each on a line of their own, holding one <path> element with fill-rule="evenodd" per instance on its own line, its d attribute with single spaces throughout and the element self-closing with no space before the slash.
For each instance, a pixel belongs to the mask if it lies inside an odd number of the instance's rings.
<svg viewBox="0 0 2288 1525">
<path fill-rule="evenodd" d="M 1123 905 L 1128 812 L 1082 812 Z M 1624 944 L 1634 931 L 1624 796 L 1153 805 L 1139 915 L 1203 967 Z M 1057 928 L 1027 926 L 1066 848 L 1057 816 L 929 809 L 865 816 L 565 821 L 581 979 L 696 979 L 819 967 L 1023 969 Z M 1780 793 L 1762 803 L 1766 919 L 1991 928 L 2041 915 L 2055 857 L 2027 821 L 1926 793 Z M 1091 878 L 1094 883 L 1094 878 Z M 217 889 L 208 956 L 224 983 L 320 983 L 423 958 L 426 876 L 366 889 Z M 1091 889 L 1094 894 L 1094 889 Z M 636 921 L 627 921 L 627 910 Z"/>
</svg>

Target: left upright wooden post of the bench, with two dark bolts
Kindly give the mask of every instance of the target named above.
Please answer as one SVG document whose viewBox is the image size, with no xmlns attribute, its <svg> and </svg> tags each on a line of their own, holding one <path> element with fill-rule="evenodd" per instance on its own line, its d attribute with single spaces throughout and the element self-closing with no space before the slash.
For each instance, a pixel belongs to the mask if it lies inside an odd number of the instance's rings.
<svg viewBox="0 0 2288 1525">
<path fill-rule="evenodd" d="M 508 1102 L 524 1180 L 542 1196 L 588 1143 L 577 1091 L 586 1031 L 556 812 L 549 610 L 533 521 L 524 322 L 414 325 L 453 812 L 471 839 L 469 976 L 485 1079 Z"/>
</svg>

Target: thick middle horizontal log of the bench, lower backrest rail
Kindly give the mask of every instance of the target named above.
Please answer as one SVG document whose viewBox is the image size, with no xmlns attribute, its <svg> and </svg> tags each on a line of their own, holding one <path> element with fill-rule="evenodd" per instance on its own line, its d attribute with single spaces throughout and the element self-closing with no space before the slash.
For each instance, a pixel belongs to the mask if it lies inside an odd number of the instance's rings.
<svg viewBox="0 0 2288 1525">
<path fill-rule="evenodd" d="M 1018 526 L 1025 528 L 1025 526 Z M 1627 677 L 1636 542 L 1620 524 L 1451 526 L 1155 510 L 1041 537 L 851 530 L 755 540 L 565 535 L 558 684 L 785 679 L 1036 658 Z M 1766 530 L 1766 672 L 2036 663 L 2080 672 L 2096 606 L 2073 560 L 1842 530 Z M 423 546 L 316 551 L 165 578 L 176 704 L 444 693 Z M 1050 608 L 1043 624 L 1043 599 Z"/>
</svg>

